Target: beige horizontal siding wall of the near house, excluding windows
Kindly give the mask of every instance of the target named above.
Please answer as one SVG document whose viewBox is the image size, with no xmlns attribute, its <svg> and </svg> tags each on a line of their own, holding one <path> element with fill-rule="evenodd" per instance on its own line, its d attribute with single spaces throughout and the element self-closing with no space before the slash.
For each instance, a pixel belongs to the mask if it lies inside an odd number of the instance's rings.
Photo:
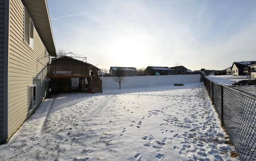
<svg viewBox="0 0 256 161">
<path fill-rule="evenodd" d="M 24 4 L 10 0 L 8 64 L 8 133 L 10 138 L 24 121 L 36 110 L 45 96 L 47 64 L 50 57 L 34 27 L 34 47 L 23 40 Z M 28 86 L 36 86 L 36 106 L 28 112 Z"/>
</svg>

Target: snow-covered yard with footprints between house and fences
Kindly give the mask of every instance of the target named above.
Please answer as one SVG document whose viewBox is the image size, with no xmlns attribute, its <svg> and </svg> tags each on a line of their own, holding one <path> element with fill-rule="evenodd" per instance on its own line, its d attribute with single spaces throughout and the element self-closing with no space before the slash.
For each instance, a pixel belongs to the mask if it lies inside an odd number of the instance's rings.
<svg viewBox="0 0 256 161">
<path fill-rule="evenodd" d="M 203 83 L 48 98 L 0 160 L 239 160 Z"/>
</svg>

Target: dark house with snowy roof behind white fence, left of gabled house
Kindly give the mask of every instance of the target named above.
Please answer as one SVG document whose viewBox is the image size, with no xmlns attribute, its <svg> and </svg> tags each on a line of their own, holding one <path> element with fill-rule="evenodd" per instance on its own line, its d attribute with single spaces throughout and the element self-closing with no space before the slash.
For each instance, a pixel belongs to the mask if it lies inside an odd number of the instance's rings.
<svg viewBox="0 0 256 161">
<path fill-rule="evenodd" d="M 171 72 L 169 67 L 147 67 L 145 75 L 171 75 Z"/>
</svg>

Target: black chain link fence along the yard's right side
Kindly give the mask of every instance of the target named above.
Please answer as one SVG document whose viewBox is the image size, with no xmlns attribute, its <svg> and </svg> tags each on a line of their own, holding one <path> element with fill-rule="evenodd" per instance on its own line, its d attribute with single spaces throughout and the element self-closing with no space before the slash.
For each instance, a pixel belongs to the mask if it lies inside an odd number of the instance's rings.
<svg viewBox="0 0 256 161">
<path fill-rule="evenodd" d="M 256 96 L 204 78 L 221 124 L 242 161 L 256 160 Z"/>
</svg>

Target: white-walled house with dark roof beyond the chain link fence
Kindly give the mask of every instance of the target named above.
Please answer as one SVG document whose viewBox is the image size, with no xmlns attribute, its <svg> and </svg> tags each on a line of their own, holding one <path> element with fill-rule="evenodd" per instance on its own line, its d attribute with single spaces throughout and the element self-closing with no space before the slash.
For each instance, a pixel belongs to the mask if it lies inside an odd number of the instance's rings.
<svg viewBox="0 0 256 161">
<path fill-rule="evenodd" d="M 244 68 L 246 68 L 246 65 L 251 65 L 254 63 L 256 63 L 256 61 L 234 62 L 231 67 L 231 75 L 246 75 Z"/>
</svg>

